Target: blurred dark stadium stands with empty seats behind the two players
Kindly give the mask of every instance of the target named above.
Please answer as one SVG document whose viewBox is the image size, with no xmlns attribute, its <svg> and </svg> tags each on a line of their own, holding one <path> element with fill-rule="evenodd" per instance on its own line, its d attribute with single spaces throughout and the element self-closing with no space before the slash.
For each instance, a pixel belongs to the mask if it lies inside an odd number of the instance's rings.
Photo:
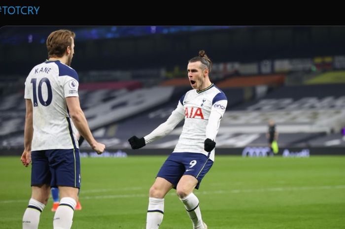
<svg viewBox="0 0 345 229">
<path fill-rule="evenodd" d="M 204 49 L 228 98 L 217 153 L 265 156 L 274 119 L 282 156 L 345 154 L 345 27 L 106 26 L 0 29 L 0 155 L 22 152 L 24 81 L 57 29 L 76 33 L 81 105 L 110 151 L 133 153 L 128 137 L 169 117 L 191 89 L 188 60 Z M 142 153 L 170 153 L 182 124 Z"/>
</svg>

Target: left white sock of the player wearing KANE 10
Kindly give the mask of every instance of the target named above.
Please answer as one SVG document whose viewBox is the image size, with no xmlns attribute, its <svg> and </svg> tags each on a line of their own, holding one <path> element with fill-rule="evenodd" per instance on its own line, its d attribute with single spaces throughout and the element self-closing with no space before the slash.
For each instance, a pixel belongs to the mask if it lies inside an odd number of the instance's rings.
<svg viewBox="0 0 345 229">
<path fill-rule="evenodd" d="M 28 208 L 23 215 L 23 229 L 38 229 L 39 216 L 45 205 L 33 198 L 29 200 Z"/>
</svg>

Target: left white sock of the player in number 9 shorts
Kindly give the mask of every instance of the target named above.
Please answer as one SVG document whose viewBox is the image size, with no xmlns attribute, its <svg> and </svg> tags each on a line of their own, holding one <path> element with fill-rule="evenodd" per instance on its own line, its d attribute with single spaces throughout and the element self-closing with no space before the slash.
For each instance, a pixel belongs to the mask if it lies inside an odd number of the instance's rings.
<svg viewBox="0 0 345 229">
<path fill-rule="evenodd" d="M 159 229 L 164 216 L 164 198 L 148 198 L 146 229 Z"/>
</svg>

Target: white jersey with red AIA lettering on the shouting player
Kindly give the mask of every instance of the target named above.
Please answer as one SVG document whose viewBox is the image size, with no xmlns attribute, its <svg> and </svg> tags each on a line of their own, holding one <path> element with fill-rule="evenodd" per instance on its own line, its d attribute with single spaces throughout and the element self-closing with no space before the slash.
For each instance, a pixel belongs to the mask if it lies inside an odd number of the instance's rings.
<svg viewBox="0 0 345 229">
<path fill-rule="evenodd" d="M 184 125 L 173 152 L 203 153 L 208 156 L 208 152 L 204 150 L 208 118 L 211 112 L 217 112 L 220 118 L 223 117 L 227 103 L 225 94 L 214 84 L 200 92 L 190 90 L 182 96 L 175 111 L 184 114 Z M 215 134 L 219 129 L 219 122 L 216 123 Z M 214 161 L 214 149 L 210 152 L 209 158 Z"/>
</svg>

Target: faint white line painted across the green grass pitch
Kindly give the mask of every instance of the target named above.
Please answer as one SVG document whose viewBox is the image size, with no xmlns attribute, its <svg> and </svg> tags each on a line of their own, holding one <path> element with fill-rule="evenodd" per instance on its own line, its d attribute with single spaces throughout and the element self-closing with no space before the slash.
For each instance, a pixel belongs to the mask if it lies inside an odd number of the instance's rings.
<svg viewBox="0 0 345 229">
<path fill-rule="evenodd" d="M 124 188 L 124 190 L 138 190 L 132 188 Z M 306 191 L 306 190 L 322 190 L 322 189 L 345 189 L 345 185 L 334 185 L 334 186 L 313 186 L 313 187 L 277 187 L 267 189 L 234 189 L 234 190 L 217 190 L 217 191 L 201 191 L 197 192 L 198 195 L 208 194 L 228 194 L 228 193 L 263 193 L 263 192 L 284 192 L 284 191 Z M 101 191 L 114 191 L 116 189 L 103 189 Z M 91 191 L 91 190 L 90 190 Z M 86 191 L 85 191 L 86 192 Z M 92 192 L 89 192 L 92 193 Z M 168 193 L 169 196 L 175 196 L 176 193 Z M 120 194 L 120 195 L 105 195 L 105 196 L 83 196 L 82 199 L 114 199 L 114 198 L 133 198 L 133 197 L 148 197 L 146 194 Z M 17 202 L 28 202 L 28 199 L 12 199 L 12 200 L 0 200 L 0 203 L 17 203 Z"/>
</svg>

